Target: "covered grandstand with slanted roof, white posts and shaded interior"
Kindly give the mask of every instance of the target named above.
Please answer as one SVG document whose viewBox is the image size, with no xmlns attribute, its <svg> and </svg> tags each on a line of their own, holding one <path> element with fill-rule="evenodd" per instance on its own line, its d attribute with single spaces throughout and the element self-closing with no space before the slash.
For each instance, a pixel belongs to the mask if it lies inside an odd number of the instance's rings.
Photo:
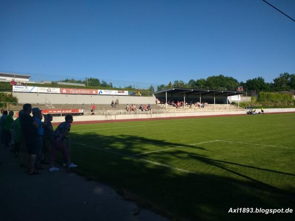
<svg viewBox="0 0 295 221">
<path fill-rule="evenodd" d="M 199 101 L 207 102 L 208 104 L 228 104 L 229 97 L 235 95 L 246 95 L 243 91 L 230 90 L 209 90 L 209 89 L 188 89 L 188 88 L 169 88 L 165 90 L 156 91 L 153 93 L 156 98 L 164 100 L 167 107 L 167 101 Z M 237 99 L 239 106 L 239 99 Z"/>
</svg>

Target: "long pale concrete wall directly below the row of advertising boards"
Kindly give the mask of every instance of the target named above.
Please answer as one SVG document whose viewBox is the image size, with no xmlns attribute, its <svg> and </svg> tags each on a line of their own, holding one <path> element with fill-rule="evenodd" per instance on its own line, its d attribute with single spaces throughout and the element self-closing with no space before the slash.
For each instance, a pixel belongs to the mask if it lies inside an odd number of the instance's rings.
<svg viewBox="0 0 295 221">
<path fill-rule="evenodd" d="M 12 92 L 19 103 L 52 103 L 52 104 L 111 104 L 119 100 L 120 104 L 155 104 L 156 98 L 112 95 L 80 95 L 80 94 L 46 94 Z"/>
</svg>

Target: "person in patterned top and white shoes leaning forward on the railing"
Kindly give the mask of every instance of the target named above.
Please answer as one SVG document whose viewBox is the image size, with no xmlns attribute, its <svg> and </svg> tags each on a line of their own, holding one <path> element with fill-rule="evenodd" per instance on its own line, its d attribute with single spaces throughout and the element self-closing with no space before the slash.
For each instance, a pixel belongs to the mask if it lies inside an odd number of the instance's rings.
<svg viewBox="0 0 295 221">
<path fill-rule="evenodd" d="M 51 148 L 51 159 L 50 159 L 50 172 L 58 171 L 59 168 L 54 166 L 55 159 L 58 151 L 62 153 L 63 159 L 66 162 L 66 167 L 76 167 L 77 165 L 68 162 L 68 150 L 64 143 L 64 138 L 67 137 L 69 131 L 71 130 L 71 123 L 73 123 L 73 116 L 66 115 L 65 121 L 60 123 L 58 128 L 55 130 L 53 139 L 52 139 L 52 148 Z M 69 165 L 68 165 L 69 164 Z"/>
</svg>

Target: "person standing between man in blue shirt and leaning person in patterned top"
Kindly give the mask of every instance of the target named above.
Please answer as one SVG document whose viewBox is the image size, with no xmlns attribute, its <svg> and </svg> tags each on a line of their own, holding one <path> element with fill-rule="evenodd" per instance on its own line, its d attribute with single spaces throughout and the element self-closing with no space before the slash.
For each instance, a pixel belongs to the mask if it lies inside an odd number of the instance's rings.
<svg viewBox="0 0 295 221">
<path fill-rule="evenodd" d="M 47 117 L 47 124 L 43 126 L 44 135 L 43 135 L 43 145 L 42 145 L 42 152 L 43 152 L 43 162 L 42 163 L 49 163 L 50 153 L 51 153 L 51 139 L 54 134 L 54 130 L 52 127 L 51 121 L 53 120 L 53 116 L 48 113 L 45 117 Z"/>
</svg>

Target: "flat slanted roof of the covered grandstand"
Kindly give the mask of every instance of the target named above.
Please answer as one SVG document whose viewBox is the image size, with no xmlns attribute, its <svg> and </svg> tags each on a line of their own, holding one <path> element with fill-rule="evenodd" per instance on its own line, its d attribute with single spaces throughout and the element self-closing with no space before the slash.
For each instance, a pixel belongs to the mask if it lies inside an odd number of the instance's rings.
<svg viewBox="0 0 295 221">
<path fill-rule="evenodd" d="M 209 89 L 189 89 L 189 88 L 169 88 L 165 90 L 160 90 L 154 92 L 154 94 L 162 94 L 162 93 L 169 93 L 169 94 L 202 94 L 202 95 L 210 95 L 210 94 L 218 94 L 218 95 L 227 95 L 227 96 L 234 96 L 234 95 L 241 95 L 246 94 L 247 92 L 243 91 L 230 91 L 230 90 L 209 90 Z"/>
</svg>

